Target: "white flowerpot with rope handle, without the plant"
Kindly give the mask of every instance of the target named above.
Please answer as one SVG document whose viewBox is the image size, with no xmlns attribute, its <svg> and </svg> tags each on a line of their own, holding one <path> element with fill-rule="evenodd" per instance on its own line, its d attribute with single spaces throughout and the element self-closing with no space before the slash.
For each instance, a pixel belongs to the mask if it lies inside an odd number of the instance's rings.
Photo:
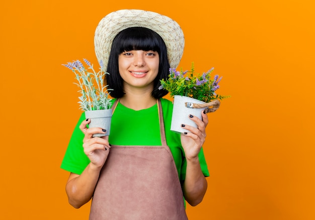
<svg viewBox="0 0 315 220">
<path fill-rule="evenodd" d="M 194 115 L 202 119 L 201 112 L 206 108 L 189 108 L 185 102 L 204 104 L 204 102 L 186 96 L 174 96 L 174 108 L 172 114 L 171 131 L 178 133 L 190 132 L 182 127 L 182 124 L 190 125 L 195 128 L 198 126 L 193 122 L 189 115 Z"/>
</svg>

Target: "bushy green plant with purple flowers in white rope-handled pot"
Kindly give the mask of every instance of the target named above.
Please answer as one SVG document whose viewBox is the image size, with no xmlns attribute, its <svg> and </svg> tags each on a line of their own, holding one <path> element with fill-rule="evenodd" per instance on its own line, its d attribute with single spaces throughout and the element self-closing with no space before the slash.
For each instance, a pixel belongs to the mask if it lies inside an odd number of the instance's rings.
<svg viewBox="0 0 315 220">
<path fill-rule="evenodd" d="M 211 68 L 202 75 L 195 74 L 194 63 L 190 71 L 176 71 L 170 69 L 169 78 L 160 80 L 159 89 L 165 89 L 174 97 L 174 108 L 172 114 L 171 130 L 179 133 L 187 132 L 182 128 L 182 124 L 188 124 L 193 127 L 197 125 L 189 119 L 189 115 L 195 115 L 202 119 L 201 112 L 214 112 L 220 106 L 221 99 L 228 96 L 221 96 L 215 93 L 220 87 L 218 83 L 222 77 L 215 75 L 211 79 Z"/>
</svg>

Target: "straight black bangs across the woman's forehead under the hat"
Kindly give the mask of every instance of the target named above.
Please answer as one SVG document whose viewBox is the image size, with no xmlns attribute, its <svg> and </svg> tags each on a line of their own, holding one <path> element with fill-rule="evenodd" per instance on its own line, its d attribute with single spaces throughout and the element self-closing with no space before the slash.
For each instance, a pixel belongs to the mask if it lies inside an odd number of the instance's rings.
<svg viewBox="0 0 315 220">
<path fill-rule="evenodd" d="M 119 54 L 132 50 L 154 51 L 160 54 L 161 43 L 164 44 L 160 35 L 150 29 L 141 27 L 125 29 L 117 37 L 119 38 L 117 39 L 118 42 L 120 42 L 118 46 Z"/>
</svg>

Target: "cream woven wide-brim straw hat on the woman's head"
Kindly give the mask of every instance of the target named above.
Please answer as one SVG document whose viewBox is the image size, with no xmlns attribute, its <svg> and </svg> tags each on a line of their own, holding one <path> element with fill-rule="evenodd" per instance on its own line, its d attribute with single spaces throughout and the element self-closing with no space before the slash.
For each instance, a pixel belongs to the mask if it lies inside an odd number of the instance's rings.
<svg viewBox="0 0 315 220">
<path fill-rule="evenodd" d="M 184 51 L 181 27 L 167 16 L 143 10 L 119 10 L 105 16 L 95 31 L 94 46 L 98 62 L 107 68 L 116 35 L 127 28 L 144 27 L 159 34 L 167 47 L 171 68 L 177 68 Z"/>
</svg>

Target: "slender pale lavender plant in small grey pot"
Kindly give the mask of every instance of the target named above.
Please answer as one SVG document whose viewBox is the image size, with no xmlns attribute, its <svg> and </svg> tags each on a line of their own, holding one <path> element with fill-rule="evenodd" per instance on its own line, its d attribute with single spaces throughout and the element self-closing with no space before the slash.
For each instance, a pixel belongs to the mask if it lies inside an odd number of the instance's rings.
<svg viewBox="0 0 315 220">
<path fill-rule="evenodd" d="M 100 127 L 106 130 L 105 134 L 94 134 L 93 137 L 107 136 L 110 134 L 112 109 L 111 98 L 109 98 L 109 92 L 107 85 L 104 85 L 105 74 L 108 74 L 104 69 L 100 68 L 100 71 L 96 72 L 93 68 L 93 64 L 83 59 L 88 69 L 86 69 L 82 62 L 76 60 L 63 64 L 63 66 L 69 68 L 75 74 L 75 79 L 81 93 L 79 98 L 80 109 L 85 111 L 86 118 L 90 119 L 89 127 Z M 90 71 L 89 71 L 90 70 Z"/>
</svg>

